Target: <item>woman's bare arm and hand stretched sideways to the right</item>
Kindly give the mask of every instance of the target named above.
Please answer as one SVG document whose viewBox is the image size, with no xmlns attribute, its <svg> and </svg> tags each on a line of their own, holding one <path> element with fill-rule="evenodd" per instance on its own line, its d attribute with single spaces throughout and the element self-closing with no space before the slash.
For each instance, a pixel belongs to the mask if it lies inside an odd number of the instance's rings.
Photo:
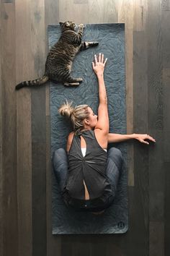
<svg viewBox="0 0 170 256">
<path fill-rule="evenodd" d="M 138 133 L 133 133 L 132 135 L 120 135 L 120 134 L 116 134 L 116 133 L 109 133 L 108 134 L 108 143 L 112 143 L 112 142 L 124 142 L 126 140 L 138 140 L 141 143 L 144 144 L 149 144 L 148 141 L 152 141 L 152 142 L 156 142 L 156 140 L 151 137 L 150 135 L 143 135 L 143 134 L 138 134 Z"/>
</svg>

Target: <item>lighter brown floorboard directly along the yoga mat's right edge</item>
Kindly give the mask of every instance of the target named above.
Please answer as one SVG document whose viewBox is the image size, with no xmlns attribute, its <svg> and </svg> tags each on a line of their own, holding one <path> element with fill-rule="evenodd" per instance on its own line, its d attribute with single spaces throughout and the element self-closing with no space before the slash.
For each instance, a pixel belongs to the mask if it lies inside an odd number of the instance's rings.
<svg viewBox="0 0 170 256">
<path fill-rule="evenodd" d="M 119 1 L 118 22 L 125 22 L 127 133 L 133 133 L 133 1 Z M 134 148 L 128 144 L 128 186 L 134 186 Z"/>
</svg>

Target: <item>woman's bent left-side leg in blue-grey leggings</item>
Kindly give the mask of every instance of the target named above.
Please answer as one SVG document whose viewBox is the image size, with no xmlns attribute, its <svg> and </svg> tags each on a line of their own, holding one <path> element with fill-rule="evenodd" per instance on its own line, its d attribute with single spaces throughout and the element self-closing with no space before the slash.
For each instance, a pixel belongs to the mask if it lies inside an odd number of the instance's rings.
<svg viewBox="0 0 170 256">
<path fill-rule="evenodd" d="M 66 184 L 68 174 L 68 155 L 63 148 L 58 148 L 53 154 L 53 169 L 55 178 L 62 191 Z"/>
</svg>

